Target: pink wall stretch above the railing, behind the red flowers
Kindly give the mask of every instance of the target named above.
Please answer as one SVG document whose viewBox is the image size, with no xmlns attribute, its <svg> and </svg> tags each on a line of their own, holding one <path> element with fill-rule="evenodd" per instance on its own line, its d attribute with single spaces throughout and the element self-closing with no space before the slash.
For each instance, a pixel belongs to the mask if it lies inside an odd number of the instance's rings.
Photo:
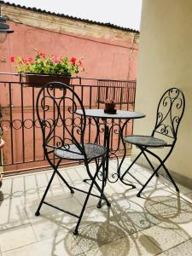
<svg viewBox="0 0 192 256">
<path fill-rule="evenodd" d="M 64 35 L 49 32 L 32 26 L 9 22 L 14 33 L 4 44 L 0 44 L 1 57 L 7 62 L 1 63 L 1 72 L 15 72 L 15 65 L 9 63 L 12 55 L 30 57 L 34 49 L 47 54 L 84 57 L 84 77 L 100 79 L 136 79 L 138 45 L 131 39 L 120 41 L 113 38 L 90 38 L 84 35 Z M 128 32 L 127 32 L 128 33 Z"/>
</svg>

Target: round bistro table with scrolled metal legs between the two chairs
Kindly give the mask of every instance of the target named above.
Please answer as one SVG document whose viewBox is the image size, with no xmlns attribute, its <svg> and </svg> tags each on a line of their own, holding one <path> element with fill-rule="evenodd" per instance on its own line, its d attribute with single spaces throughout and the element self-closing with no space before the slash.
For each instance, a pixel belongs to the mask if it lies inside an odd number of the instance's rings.
<svg viewBox="0 0 192 256">
<path fill-rule="evenodd" d="M 125 125 L 130 121 L 130 119 L 141 119 L 143 117 L 145 117 L 144 113 L 140 113 L 140 112 L 136 112 L 136 111 L 128 111 L 128 110 L 117 110 L 117 113 L 105 113 L 103 109 L 84 109 L 85 111 L 85 115 L 87 117 L 90 117 L 92 119 L 95 120 L 96 122 L 96 127 L 97 127 L 97 136 L 99 134 L 99 122 L 98 119 L 102 119 L 103 123 L 104 123 L 104 147 L 107 148 L 107 154 L 106 154 L 106 163 L 105 163 L 105 170 L 106 170 L 106 177 L 108 179 L 109 182 L 114 183 L 116 182 L 118 179 L 122 182 L 125 183 L 125 181 L 121 178 L 122 175 L 120 175 L 120 168 L 125 160 L 125 142 L 123 139 L 123 132 L 124 132 L 124 128 Z M 78 109 L 76 111 L 77 114 L 79 115 L 83 115 L 83 111 L 81 109 Z M 111 129 L 108 125 L 108 119 L 124 119 L 125 122 L 123 124 L 121 124 L 121 122 L 119 121 L 119 140 L 121 140 L 121 142 L 123 143 L 124 146 L 124 154 L 123 154 L 123 158 L 120 161 L 120 164 L 118 165 L 118 169 L 116 173 L 113 173 L 111 175 L 111 177 L 113 177 L 113 179 L 109 176 L 109 172 L 108 172 L 108 160 L 109 160 L 109 156 L 111 153 L 110 150 L 110 132 Z M 116 124 L 118 125 L 118 124 Z M 125 183 L 126 185 L 130 185 L 131 187 L 135 188 L 135 186 L 129 184 L 129 183 Z"/>
</svg>

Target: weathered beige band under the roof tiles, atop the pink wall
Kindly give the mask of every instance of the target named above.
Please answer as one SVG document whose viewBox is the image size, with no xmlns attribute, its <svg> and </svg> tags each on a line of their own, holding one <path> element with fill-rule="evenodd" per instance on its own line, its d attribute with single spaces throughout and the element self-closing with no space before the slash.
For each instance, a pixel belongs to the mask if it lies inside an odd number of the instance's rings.
<svg viewBox="0 0 192 256">
<path fill-rule="evenodd" d="M 116 42 L 125 42 L 128 44 L 138 44 L 139 34 L 137 32 L 121 31 L 108 26 L 90 24 L 81 20 L 72 20 L 57 15 L 39 13 L 38 11 L 22 9 L 9 5 L 3 5 L 2 15 L 15 23 L 26 26 L 37 27 L 51 32 L 61 34 L 75 34 L 80 37 L 103 38 Z"/>
</svg>

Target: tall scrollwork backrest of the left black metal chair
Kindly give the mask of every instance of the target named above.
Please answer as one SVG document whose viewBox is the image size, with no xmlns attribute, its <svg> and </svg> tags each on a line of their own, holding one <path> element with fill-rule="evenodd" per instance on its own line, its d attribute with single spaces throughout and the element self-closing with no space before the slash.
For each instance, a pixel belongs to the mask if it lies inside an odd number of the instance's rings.
<svg viewBox="0 0 192 256">
<path fill-rule="evenodd" d="M 70 152 L 74 144 L 84 154 L 86 116 L 84 106 L 73 88 L 59 82 L 45 84 L 36 103 L 38 121 L 43 132 L 43 147 L 49 152 L 63 148 Z M 81 109 L 83 115 L 75 112 Z"/>
</svg>

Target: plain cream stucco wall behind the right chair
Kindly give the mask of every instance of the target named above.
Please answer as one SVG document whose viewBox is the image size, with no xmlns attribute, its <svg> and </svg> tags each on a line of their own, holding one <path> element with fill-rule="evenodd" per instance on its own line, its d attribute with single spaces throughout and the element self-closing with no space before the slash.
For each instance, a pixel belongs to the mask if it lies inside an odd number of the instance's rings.
<svg viewBox="0 0 192 256">
<path fill-rule="evenodd" d="M 135 134 L 150 135 L 163 92 L 177 86 L 186 97 L 177 144 L 167 161 L 173 172 L 192 177 L 192 1 L 144 0 L 137 73 Z M 159 153 L 163 150 L 158 149 Z M 133 156 L 137 149 L 133 149 Z"/>
</svg>

